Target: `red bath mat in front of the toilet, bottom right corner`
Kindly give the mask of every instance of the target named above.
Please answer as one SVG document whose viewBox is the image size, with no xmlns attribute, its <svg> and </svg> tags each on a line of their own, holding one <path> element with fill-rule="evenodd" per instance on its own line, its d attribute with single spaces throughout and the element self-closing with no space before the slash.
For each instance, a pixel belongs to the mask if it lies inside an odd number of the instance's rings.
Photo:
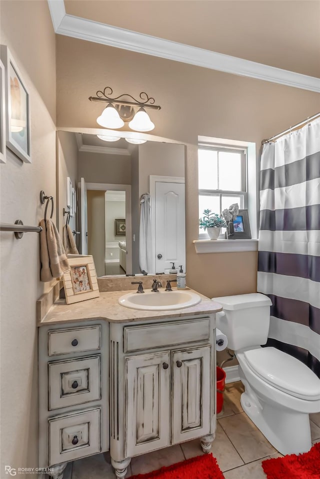
<svg viewBox="0 0 320 479">
<path fill-rule="evenodd" d="M 262 462 L 262 469 L 267 479 L 319 479 L 320 442 L 303 454 L 266 459 Z"/>
</svg>

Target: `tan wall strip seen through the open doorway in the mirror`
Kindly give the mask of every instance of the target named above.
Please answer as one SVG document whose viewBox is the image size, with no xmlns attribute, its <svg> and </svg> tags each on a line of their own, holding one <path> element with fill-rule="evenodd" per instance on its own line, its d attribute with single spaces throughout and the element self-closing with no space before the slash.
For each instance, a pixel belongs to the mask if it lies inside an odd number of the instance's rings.
<svg viewBox="0 0 320 479">
<path fill-rule="evenodd" d="M 88 213 L 88 254 L 92 254 L 97 276 L 104 276 L 105 255 L 105 231 L 104 231 L 104 207 L 105 191 L 88 189 L 87 213 Z"/>
</svg>

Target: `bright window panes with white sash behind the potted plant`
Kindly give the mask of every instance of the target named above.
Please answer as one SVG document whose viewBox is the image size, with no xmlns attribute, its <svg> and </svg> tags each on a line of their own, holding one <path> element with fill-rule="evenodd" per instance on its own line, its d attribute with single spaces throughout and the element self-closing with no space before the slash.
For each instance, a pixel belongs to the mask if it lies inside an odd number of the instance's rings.
<svg viewBox="0 0 320 479">
<path fill-rule="evenodd" d="M 204 209 L 220 213 L 232 203 L 247 208 L 246 148 L 199 146 L 199 217 Z M 207 234 L 199 228 L 199 236 Z"/>
</svg>

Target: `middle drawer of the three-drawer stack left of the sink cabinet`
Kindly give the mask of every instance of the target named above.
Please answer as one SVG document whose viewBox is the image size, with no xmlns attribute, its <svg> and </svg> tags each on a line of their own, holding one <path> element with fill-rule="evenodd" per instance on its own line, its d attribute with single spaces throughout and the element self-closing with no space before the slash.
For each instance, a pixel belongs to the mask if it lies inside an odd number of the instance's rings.
<svg viewBox="0 0 320 479">
<path fill-rule="evenodd" d="M 101 398 L 100 355 L 48 363 L 49 410 Z"/>
</svg>

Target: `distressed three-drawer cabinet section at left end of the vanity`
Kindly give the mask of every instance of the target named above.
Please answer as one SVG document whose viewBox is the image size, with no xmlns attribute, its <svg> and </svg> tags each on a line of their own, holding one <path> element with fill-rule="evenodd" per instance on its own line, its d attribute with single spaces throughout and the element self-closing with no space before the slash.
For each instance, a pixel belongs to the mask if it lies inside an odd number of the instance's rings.
<svg viewBox="0 0 320 479">
<path fill-rule="evenodd" d="M 106 321 L 39 328 L 39 467 L 109 449 Z"/>
</svg>

